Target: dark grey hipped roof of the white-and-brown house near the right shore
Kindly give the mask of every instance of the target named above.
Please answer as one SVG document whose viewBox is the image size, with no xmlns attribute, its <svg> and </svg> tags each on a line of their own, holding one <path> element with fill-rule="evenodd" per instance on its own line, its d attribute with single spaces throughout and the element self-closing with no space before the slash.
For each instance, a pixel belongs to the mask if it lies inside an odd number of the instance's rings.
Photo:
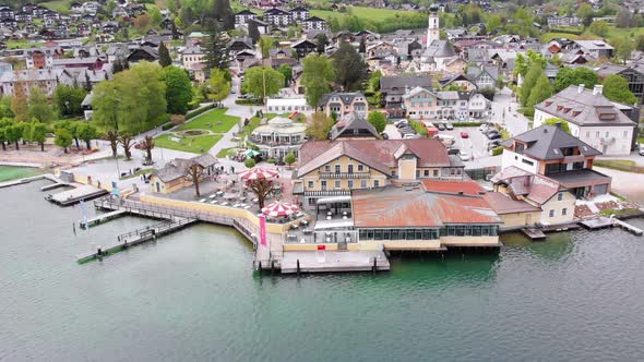
<svg viewBox="0 0 644 362">
<path fill-rule="evenodd" d="M 563 159 L 564 155 L 561 148 L 576 147 L 583 156 L 597 156 L 601 153 L 580 138 L 565 133 L 557 125 L 544 124 L 536 129 L 514 136 L 503 143 L 503 146 L 510 146 L 513 141 L 526 143 L 527 147 L 524 154 L 539 160 Z"/>
</svg>

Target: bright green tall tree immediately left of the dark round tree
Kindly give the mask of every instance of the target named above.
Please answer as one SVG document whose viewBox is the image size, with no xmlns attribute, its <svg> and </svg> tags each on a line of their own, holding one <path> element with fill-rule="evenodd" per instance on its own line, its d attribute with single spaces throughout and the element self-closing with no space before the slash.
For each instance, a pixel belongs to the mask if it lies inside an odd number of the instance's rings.
<svg viewBox="0 0 644 362">
<path fill-rule="evenodd" d="M 313 108 L 320 106 L 320 99 L 331 90 L 329 83 L 335 74 L 329 58 L 320 55 L 309 55 L 302 62 L 302 86 L 307 96 L 307 102 Z"/>
</svg>

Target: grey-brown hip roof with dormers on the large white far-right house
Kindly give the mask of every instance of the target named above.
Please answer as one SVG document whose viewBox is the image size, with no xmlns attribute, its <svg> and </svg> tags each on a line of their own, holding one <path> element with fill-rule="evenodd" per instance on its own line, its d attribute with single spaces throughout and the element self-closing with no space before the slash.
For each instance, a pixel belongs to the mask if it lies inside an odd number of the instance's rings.
<svg viewBox="0 0 644 362">
<path fill-rule="evenodd" d="M 635 125 L 616 105 L 601 94 L 601 86 L 586 89 L 571 85 L 535 106 L 535 109 L 577 125 Z"/>
</svg>

